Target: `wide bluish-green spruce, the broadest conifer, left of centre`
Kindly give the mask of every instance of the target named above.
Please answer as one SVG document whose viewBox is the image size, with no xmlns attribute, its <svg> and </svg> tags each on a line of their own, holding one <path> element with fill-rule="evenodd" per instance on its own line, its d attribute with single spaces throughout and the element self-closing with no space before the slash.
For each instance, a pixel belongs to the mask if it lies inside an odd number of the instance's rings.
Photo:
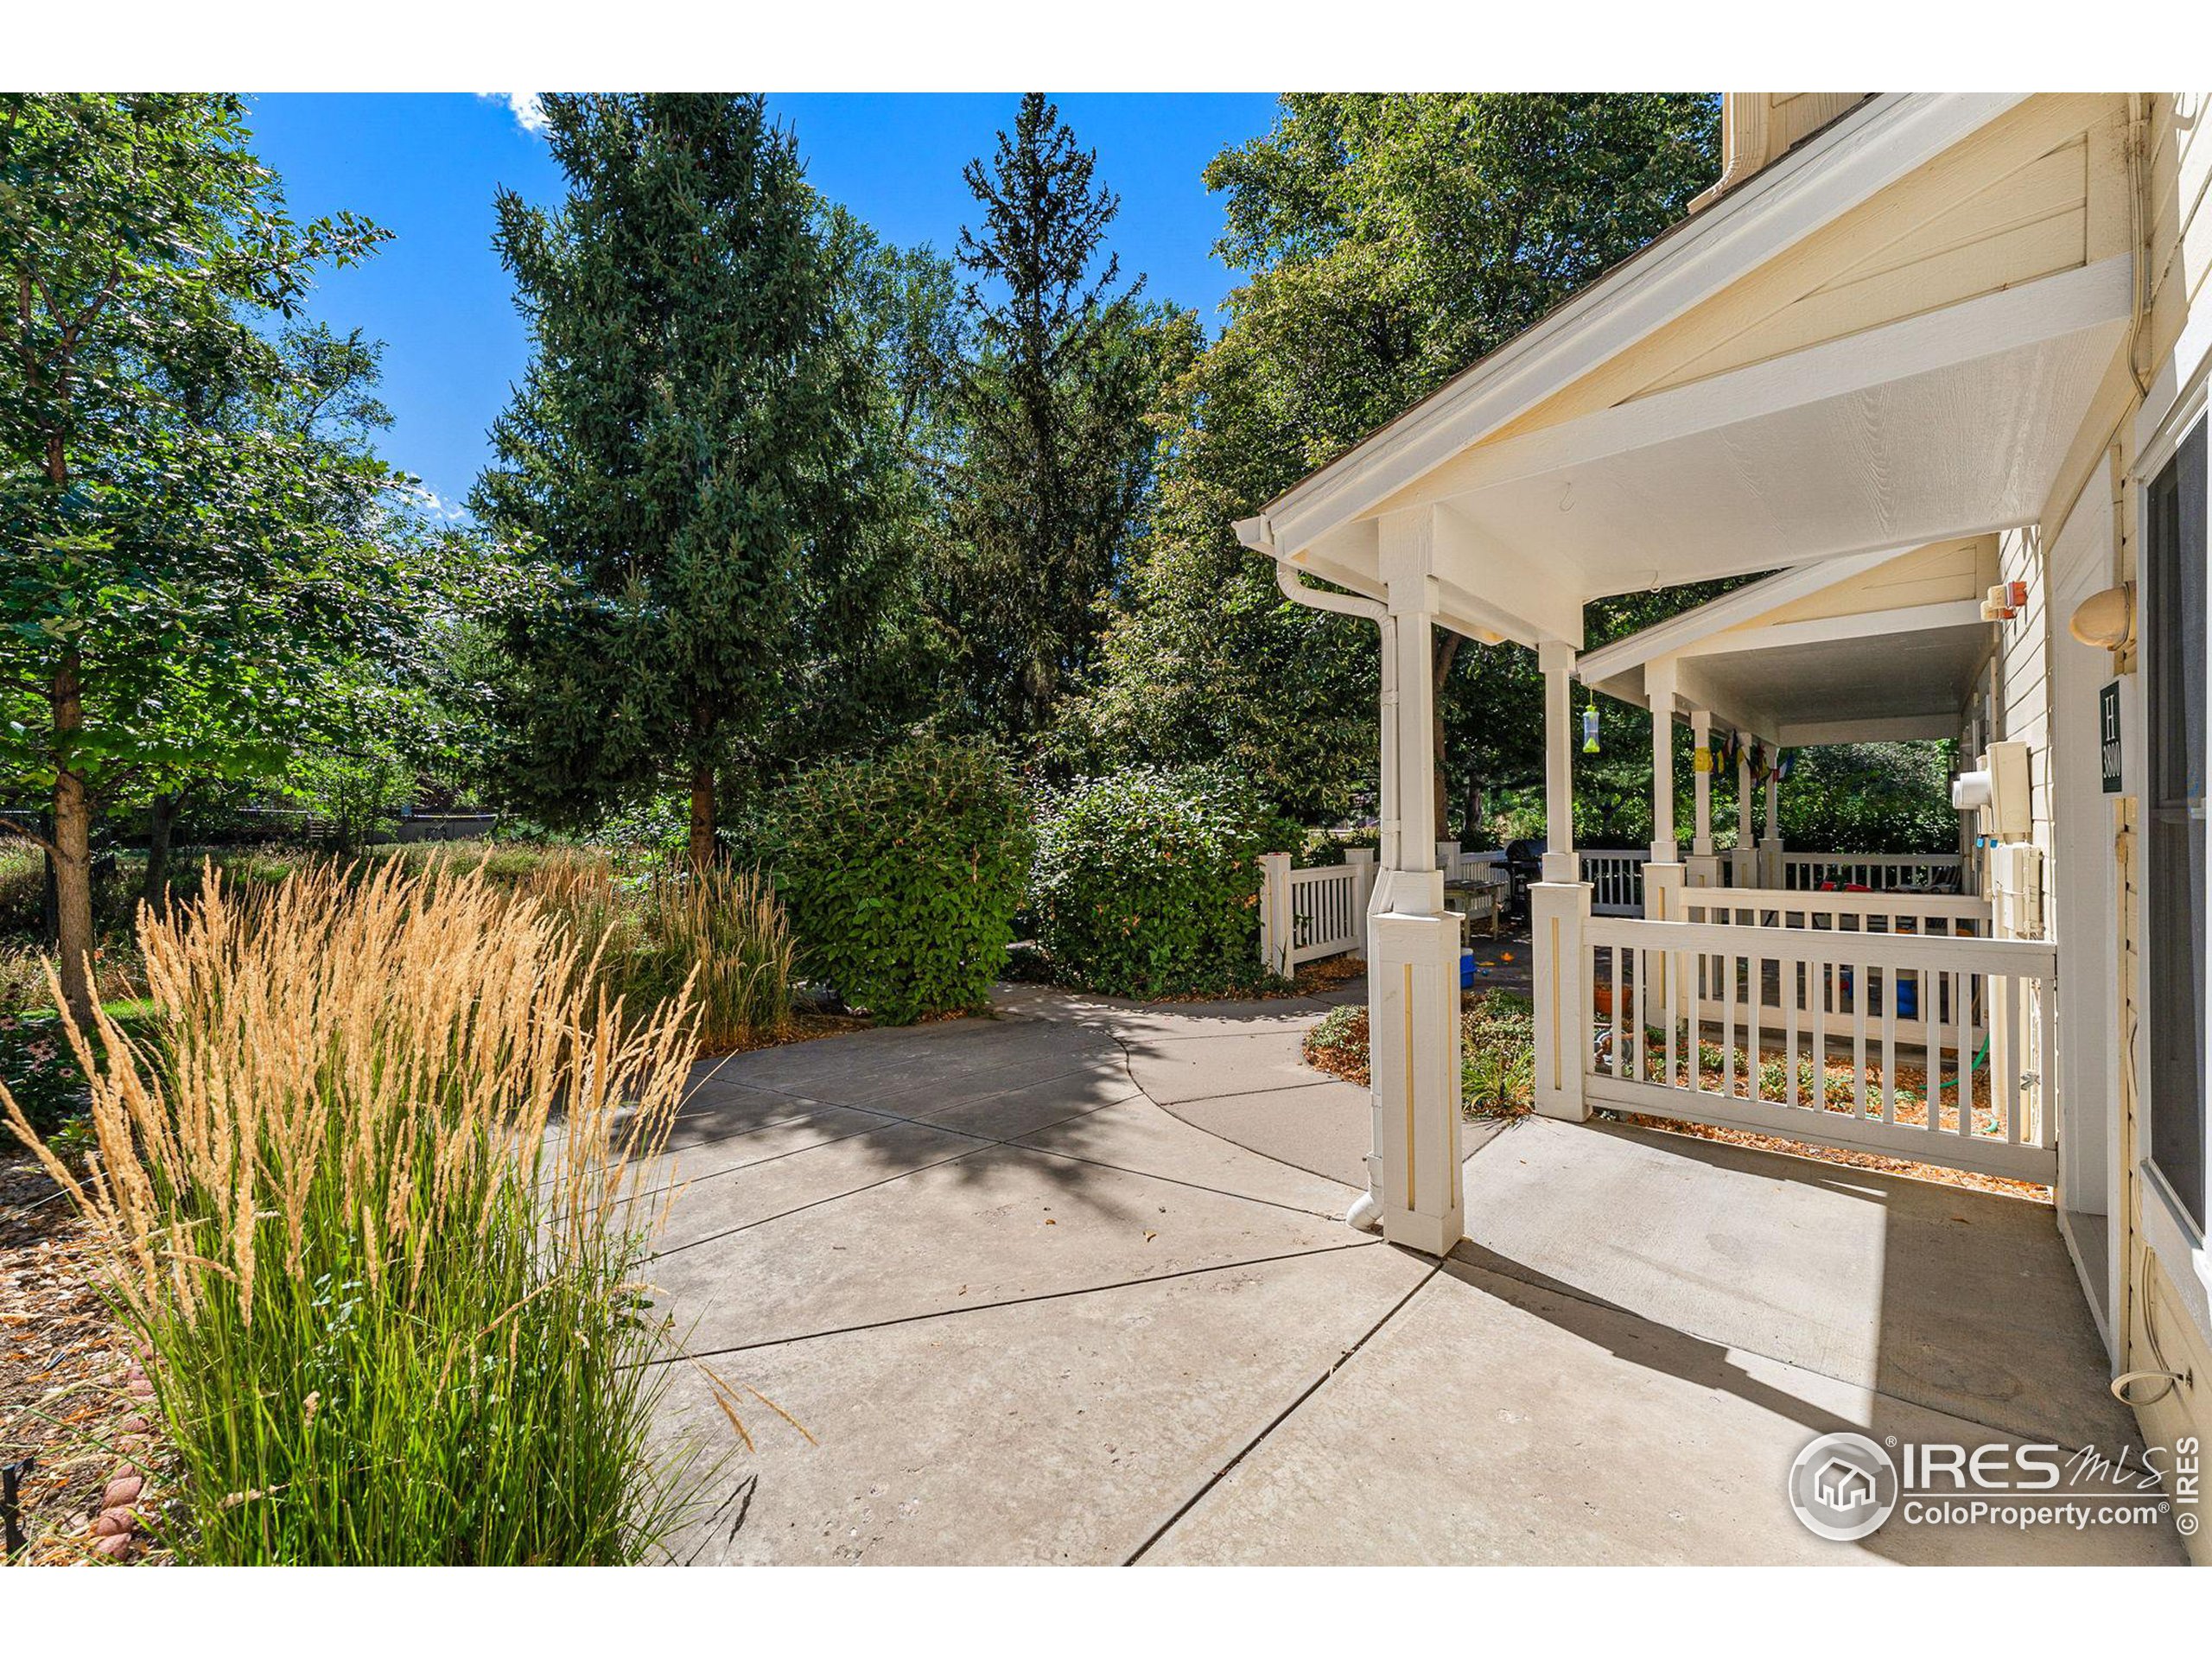
<svg viewBox="0 0 2212 1659">
<path fill-rule="evenodd" d="M 841 250 L 757 95 L 546 97 L 568 179 L 507 190 L 495 243 L 535 356 L 476 509 L 544 566 L 504 615 L 498 772 L 553 821 L 717 796 L 876 622 L 869 354 Z"/>
</svg>

